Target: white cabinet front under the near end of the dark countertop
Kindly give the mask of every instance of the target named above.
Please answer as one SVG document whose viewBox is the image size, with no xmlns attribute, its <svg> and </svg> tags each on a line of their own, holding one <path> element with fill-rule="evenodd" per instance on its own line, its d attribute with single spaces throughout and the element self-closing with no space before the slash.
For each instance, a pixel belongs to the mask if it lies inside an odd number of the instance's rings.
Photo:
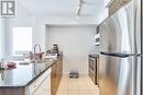
<svg viewBox="0 0 143 95">
<path fill-rule="evenodd" d="M 51 69 L 28 86 L 26 95 L 51 95 Z"/>
</svg>

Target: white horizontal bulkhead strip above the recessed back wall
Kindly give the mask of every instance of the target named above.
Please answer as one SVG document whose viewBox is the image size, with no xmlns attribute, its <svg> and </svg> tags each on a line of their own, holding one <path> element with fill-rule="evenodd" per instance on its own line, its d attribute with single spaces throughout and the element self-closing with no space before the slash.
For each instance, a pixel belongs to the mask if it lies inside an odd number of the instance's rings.
<svg viewBox="0 0 143 95">
<path fill-rule="evenodd" d="M 98 17 L 97 16 L 48 16 L 46 20 L 46 24 L 50 25 L 70 25 L 70 24 L 89 24 L 95 25 L 98 24 Z"/>
</svg>

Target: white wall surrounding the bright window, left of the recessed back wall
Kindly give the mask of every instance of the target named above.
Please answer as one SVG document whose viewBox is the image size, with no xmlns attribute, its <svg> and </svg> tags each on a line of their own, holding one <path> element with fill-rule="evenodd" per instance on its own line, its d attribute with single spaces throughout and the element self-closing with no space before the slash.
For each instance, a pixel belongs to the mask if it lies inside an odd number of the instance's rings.
<svg viewBox="0 0 143 95">
<path fill-rule="evenodd" d="M 12 28 L 13 27 L 33 27 L 33 47 L 40 44 L 42 51 L 45 50 L 45 16 L 35 16 L 31 11 L 25 9 L 20 2 L 16 7 L 16 15 L 12 19 L 7 19 L 7 45 L 6 54 L 12 51 Z"/>
</svg>

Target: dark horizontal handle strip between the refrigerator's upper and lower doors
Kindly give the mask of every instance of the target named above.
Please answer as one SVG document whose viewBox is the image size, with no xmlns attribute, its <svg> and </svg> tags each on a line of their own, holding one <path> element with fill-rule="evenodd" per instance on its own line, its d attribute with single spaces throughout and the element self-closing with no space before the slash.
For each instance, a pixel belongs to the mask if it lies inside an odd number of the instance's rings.
<svg viewBox="0 0 143 95">
<path fill-rule="evenodd" d="M 128 57 L 143 57 L 141 54 L 120 54 L 120 52 L 100 52 L 101 55 L 105 56 L 112 56 L 112 57 L 118 57 L 118 58 L 128 58 Z"/>
</svg>

